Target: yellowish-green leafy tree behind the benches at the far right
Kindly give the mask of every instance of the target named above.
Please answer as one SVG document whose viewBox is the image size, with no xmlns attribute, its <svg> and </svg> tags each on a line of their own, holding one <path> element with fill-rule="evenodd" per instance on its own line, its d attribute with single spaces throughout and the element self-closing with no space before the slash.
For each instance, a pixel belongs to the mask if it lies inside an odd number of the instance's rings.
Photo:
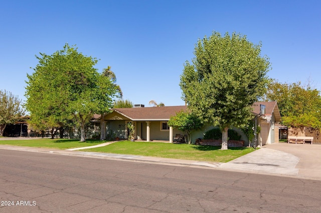
<svg viewBox="0 0 321 213">
<path fill-rule="evenodd" d="M 265 94 L 266 100 L 277 101 L 285 125 L 321 128 L 320 92 L 301 82 L 280 83 L 273 79 Z"/>
</svg>

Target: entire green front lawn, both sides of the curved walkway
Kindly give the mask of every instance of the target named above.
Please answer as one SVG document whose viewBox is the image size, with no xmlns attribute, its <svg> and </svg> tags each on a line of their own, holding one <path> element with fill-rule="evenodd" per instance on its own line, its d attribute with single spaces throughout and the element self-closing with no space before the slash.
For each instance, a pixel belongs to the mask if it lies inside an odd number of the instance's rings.
<svg viewBox="0 0 321 213">
<path fill-rule="evenodd" d="M 26 140 L 0 140 L 0 144 L 68 149 L 97 145 L 106 140 L 79 139 L 26 139 Z M 244 154 L 254 151 L 248 147 L 229 147 L 228 150 L 220 150 L 220 146 L 202 146 L 192 144 L 176 144 L 164 142 L 131 142 L 129 140 L 118 141 L 106 146 L 83 149 L 85 151 L 107 152 L 117 154 L 132 154 L 153 157 L 165 157 L 176 159 L 190 159 L 212 162 L 228 162 Z"/>
</svg>

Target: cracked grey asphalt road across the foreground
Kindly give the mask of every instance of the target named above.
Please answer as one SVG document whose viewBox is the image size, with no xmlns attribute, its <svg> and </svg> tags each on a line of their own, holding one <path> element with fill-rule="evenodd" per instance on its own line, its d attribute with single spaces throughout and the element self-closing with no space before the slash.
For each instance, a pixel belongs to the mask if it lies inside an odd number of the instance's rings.
<svg viewBox="0 0 321 213">
<path fill-rule="evenodd" d="M 0 149 L 0 212 L 321 212 L 321 181 Z"/>
</svg>

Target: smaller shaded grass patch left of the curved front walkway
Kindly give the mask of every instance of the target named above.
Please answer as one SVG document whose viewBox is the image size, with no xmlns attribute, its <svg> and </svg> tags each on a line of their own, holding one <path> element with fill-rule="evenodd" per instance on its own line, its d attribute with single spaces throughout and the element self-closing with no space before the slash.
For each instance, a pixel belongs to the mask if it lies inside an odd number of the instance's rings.
<svg viewBox="0 0 321 213">
<path fill-rule="evenodd" d="M 30 147 L 42 147 L 42 148 L 58 148 L 58 149 L 68 149 L 68 148 L 78 148 L 84 146 L 97 145 L 107 141 L 101 140 L 86 140 L 86 142 L 80 142 L 79 139 L 26 139 L 26 140 L 0 140 L 0 144 L 6 145 L 19 145 L 19 146 L 30 146 Z"/>
</svg>

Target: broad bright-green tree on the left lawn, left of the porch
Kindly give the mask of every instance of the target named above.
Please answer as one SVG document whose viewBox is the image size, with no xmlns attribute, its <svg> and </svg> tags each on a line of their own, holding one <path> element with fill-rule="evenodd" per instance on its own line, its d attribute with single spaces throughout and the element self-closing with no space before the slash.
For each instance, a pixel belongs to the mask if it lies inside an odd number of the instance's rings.
<svg viewBox="0 0 321 213">
<path fill-rule="evenodd" d="M 36 123 L 59 126 L 73 118 L 85 141 L 85 124 L 94 113 L 108 111 L 116 94 L 110 78 L 97 72 L 97 59 L 66 44 L 51 55 L 36 56 L 39 64 L 28 76 L 26 107 Z"/>
</svg>

